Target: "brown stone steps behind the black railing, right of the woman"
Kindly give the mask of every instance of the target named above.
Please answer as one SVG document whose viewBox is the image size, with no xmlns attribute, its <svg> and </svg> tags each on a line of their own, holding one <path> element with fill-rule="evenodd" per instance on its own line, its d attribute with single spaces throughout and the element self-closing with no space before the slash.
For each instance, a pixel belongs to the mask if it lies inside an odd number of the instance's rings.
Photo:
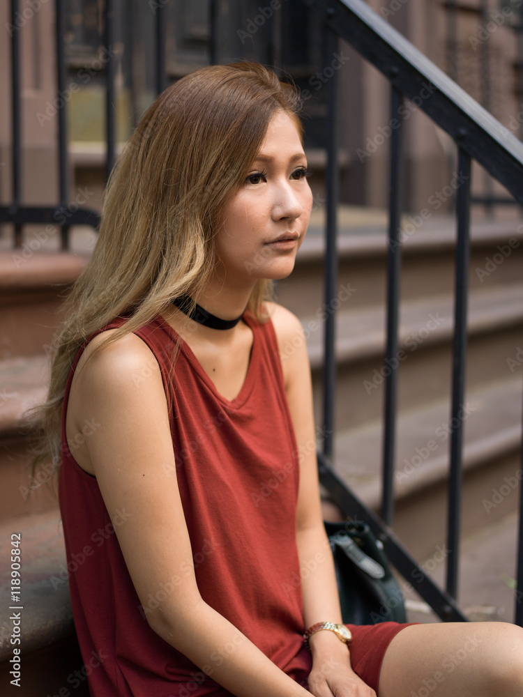
<svg viewBox="0 0 523 697">
<path fill-rule="evenodd" d="M 356 494 L 379 510 L 384 378 L 391 369 L 384 365 L 387 243 L 383 221 L 365 223 L 363 218 L 351 226 L 347 223 L 338 243 L 334 464 Z M 278 291 L 282 304 L 294 309 L 303 322 L 312 365 L 314 411 L 320 423 L 321 317 L 329 309 L 323 302 L 323 242 L 314 234 L 314 227 L 310 232 L 301 250 L 303 267 L 296 268 L 296 277 L 281 282 Z M 460 576 L 460 602 L 462 598 L 471 619 L 513 621 L 513 603 L 510 606 L 506 599 L 497 598 L 497 593 L 505 598 L 508 591 L 513 596 L 505 581 L 496 586 L 491 578 L 488 592 L 482 595 L 478 574 L 485 562 L 475 540 L 478 531 L 488 535 L 491 529 L 497 530 L 498 540 L 506 535 L 510 541 L 515 534 L 503 527 L 503 521 L 517 509 L 522 475 L 522 241 L 517 222 L 472 225 Z M 445 566 L 440 551 L 446 540 L 446 481 L 453 430 L 454 248 L 455 222 L 445 218 L 429 221 L 404 240 L 397 354 L 393 528 L 415 558 L 427 561 L 429 572 L 437 561 L 440 576 Z M 298 283 L 305 276 L 308 284 Z M 288 353 L 292 350 L 289 346 Z M 331 516 L 336 516 L 335 510 Z M 506 542 L 501 549 L 507 556 L 504 567 L 513 567 L 515 547 Z M 436 560 L 438 556 L 442 558 Z M 414 592 L 407 592 L 407 599 L 412 621 L 434 620 L 435 615 L 427 612 Z M 421 612 L 418 607 L 423 608 Z"/>
</svg>

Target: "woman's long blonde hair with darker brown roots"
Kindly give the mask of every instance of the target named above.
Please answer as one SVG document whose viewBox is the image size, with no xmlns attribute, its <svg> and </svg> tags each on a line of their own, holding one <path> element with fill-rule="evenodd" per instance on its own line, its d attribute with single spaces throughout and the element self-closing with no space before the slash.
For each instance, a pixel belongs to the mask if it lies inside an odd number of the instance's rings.
<svg viewBox="0 0 523 697">
<path fill-rule="evenodd" d="M 109 178 L 100 235 L 63 305 L 47 401 L 33 412 L 38 461 L 57 468 L 61 410 L 79 347 L 118 316 L 128 321 L 100 348 L 149 323 L 172 299 L 197 296 L 215 268 L 215 222 L 245 180 L 278 110 L 293 118 L 298 92 L 257 63 L 208 66 L 166 89 L 130 137 Z M 272 289 L 257 282 L 248 309 L 263 319 Z"/>
</svg>

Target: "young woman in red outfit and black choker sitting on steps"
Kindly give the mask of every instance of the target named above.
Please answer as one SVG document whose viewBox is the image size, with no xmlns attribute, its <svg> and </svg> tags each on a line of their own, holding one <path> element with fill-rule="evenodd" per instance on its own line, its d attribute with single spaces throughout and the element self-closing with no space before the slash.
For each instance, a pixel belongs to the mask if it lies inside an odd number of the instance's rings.
<svg viewBox="0 0 523 697">
<path fill-rule="evenodd" d="M 312 203 L 298 109 L 198 70 L 112 174 L 45 406 L 91 696 L 521 696 L 519 627 L 341 625 L 305 340 L 268 300 Z"/>
</svg>

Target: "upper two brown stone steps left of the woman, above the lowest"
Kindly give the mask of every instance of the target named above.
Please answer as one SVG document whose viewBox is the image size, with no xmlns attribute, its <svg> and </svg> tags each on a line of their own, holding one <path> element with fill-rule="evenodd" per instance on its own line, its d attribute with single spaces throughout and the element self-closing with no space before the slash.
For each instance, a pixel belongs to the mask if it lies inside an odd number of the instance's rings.
<svg viewBox="0 0 523 697">
<path fill-rule="evenodd" d="M 56 507 L 50 472 L 31 480 L 24 413 L 45 399 L 58 309 L 87 259 L 0 252 L 0 520 Z"/>
</svg>

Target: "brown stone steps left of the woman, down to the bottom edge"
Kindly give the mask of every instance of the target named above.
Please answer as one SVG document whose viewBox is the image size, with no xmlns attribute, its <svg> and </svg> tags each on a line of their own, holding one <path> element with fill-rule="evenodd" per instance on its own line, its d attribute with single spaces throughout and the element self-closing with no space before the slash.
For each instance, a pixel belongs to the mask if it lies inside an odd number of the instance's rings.
<svg viewBox="0 0 523 697">
<path fill-rule="evenodd" d="M 70 609 L 56 482 L 49 466 L 31 477 L 31 429 L 24 421 L 24 413 L 45 399 L 57 311 L 87 259 L 33 253 L 30 240 L 22 250 L 0 251 L 0 676 L 22 697 L 89 695 Z M 11 546 L 12 535 L 20 547 Z M 20 595 L 13 592 L 12 549 L 20 549 Z M 15 648 L 22 652 L 20 687 L 10 684 Z"/>
</svg>

